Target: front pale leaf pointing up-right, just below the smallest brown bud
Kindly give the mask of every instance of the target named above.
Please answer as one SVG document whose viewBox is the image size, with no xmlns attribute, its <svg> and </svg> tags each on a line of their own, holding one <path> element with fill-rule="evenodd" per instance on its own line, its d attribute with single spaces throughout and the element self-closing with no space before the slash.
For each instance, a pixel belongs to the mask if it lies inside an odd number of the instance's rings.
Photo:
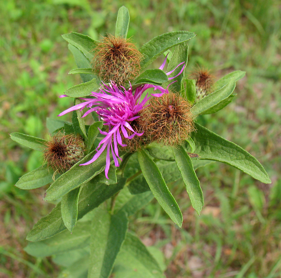
<svg viewBox="0 0 281 278">
<path fill-rule="evenodd" d="M 217 105 L 220 101 L 228 98 L 235 88 L 235 80 L 231 78 L 230 81 L 222 87 L 220 90 L 207 95 L 205 98 L 201 99 L 193 107 L 191 107 L 191 113 L 193 116 L 203 114 L 203 112 L 211 109 Z"/>
</svg>

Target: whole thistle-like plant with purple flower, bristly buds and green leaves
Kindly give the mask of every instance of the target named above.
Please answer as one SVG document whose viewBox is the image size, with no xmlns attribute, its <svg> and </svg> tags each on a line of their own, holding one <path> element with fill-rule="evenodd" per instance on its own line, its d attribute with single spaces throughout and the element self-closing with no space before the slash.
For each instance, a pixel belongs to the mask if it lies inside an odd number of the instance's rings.
<svg viewBox="0 0 281 278">
<path fill-rule="evenodd" d="M 43 199 L 57 200 L 57 205 L 29 232 L 25 251 L 53 256 L 57 263 L 67 259 L 60 277 L 164 277 L 128 230 L 128 216 L 155 197 L 181 227 L 181 210 L 166 185 L 179 179 L 200 214 L 203 193 L 195 170 L 209 160 L 271 183 L 253 156 L 196 123 L 197 116 L 215 113 L 233 100 L 235 83 L 245 72 L 234 71 L 214 86 L 208 72 L 186 78 L 187 41 L 194 33 L 166 33 L 137 49 L 127 40 L 128 25 L 123 6 L 115 35 L 101 42 L 79 33 L 63 35 L 78 61 L 69 73 L 80 74 L 83 81 L 62 95 L 74 98 L 74 106 L 58 116 L 72 112 L 72 123 L 57 121 L 49 141 L 10 134 L 44 153 L 44 164 L 16 186 L 50 184 Z M 159 69 L 147 69 L 169 49 L 169 61 L 163 55 Z M 92 117 L 91 125 L 85 125 L 85 116 Z"/>
</svg>

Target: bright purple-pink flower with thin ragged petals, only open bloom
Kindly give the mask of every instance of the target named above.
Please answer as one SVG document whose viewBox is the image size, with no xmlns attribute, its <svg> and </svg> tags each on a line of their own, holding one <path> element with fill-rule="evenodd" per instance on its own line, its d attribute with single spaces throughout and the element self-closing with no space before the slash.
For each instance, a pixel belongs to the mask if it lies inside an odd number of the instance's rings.
<svg viewBox="0 0 281 278">
<path fill-rule="evenodd" d="M 167 56 L 159 69 L 163 70 L 166 60 Z M 178 66 L 182 64 L 184 64 L 184 62 Z M 182 73 L 183 69 L 184 65 L 179 74 Z M 168 72 L 167 75 L 170 75 L 174 70 Z M 168 79 L 170 80 L 175 77 Z M 126 146 L 122 144 L 120 133 L 122 132 L 123 136 L 128 139 L 132 139 L 134 136 L 141 136 L 143 134 L 137 133 L 130 125 L 130 122 L 140 117 L 136 115 L 145 107 L 146 102 L 150 97 L 147 93 L 142 100 L 140 100 L 140 98 L 142 94 L 149 88 L 154 88 L 154 91 L 160 91 L 160 93 L 153 93 L 151 96 L 159 97 L 163 94 L 169 93 L 168 88 L 164 89 L 162 86 L 156 86 L 152 84 L 144 84 L 142 86 L 136 87 L 134 90 L 130 84 L 130 88 L 127 90 L 123 86 L 118 87 L 114 82 L 111 82 L 109 85 L 103 84 L 103 87 L 99 92 L 92 92 L 91 96 L 94 98 L 80 98 L 85 102 L 74 105 L 58 115 L 62 116 L 68 112 L 78 109 L 82 110 L 83 108 L 88 107 L 89 110 L 84 113 L 83 117 L 95 111 L 98 114 L 99 119 L 103 121 L 103 124 L 108 126 L 108 132 L 99 129 L 100 133 L 105 135 L 105 137 L 100 141 L 96 149 L 97 153 L 91 160 L 80 165 L 88 165 L 94 162 L 101 155 L 101 153 L 107 149 L 105 176 L 108 179 L 110 153 L 112 154 L 115 166 L 117 167 L 119 166 L 119 161 L 117 158 L 120 158 L 118 154 L 118 144 L 120 146 Z M 62 95 L 61 97 L 64 96 L 65 95 Z M 132 132 L 130 136 L 128 135 L 127 129 Z M 122 161 L 121 158 L 120 160 Z"/>
</svg>

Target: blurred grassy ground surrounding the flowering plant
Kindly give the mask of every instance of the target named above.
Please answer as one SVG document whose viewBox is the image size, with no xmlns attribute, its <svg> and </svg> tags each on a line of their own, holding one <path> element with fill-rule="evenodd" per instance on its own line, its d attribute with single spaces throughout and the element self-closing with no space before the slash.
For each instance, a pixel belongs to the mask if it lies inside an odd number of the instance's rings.
<svg viewBox="0 0 281 278">
<path fill-rule="evenodd" d="M 55 277 L 58 272 L 50 258 L 34 259 L 23 251 L 27 232 L 53 204 L 42 201 L 46 188 L 14 187 L 21 175 L 41 165 L 42 157 L 11 141 L 9 133 L 48 136 L 46 117 L 55 118 L 72 102 L 58 96 L 81 82 L 78 75 L 67 75 L 76 65 L 61 34 L 80 32 L 98 40 L 114 33 L 121 5 L 129 9 L 128 36 L 137 46 L 165 32 L 197 34 L 189 41 L 187 74 L 197 65 L 211 69 L 217 79 L 232 70 L 247 72 L 233 103 L 199 120 L 254 155 L 272 180 L 265 185 L 230 166 L 210 164 L 197 171 L 205 199 L 200 217 L 174 184 L 182 229 L 156 202 L 132 218 L 130 228 L 146 245 L 161 249 L 168 278 L 280 277 L 278 0 L 1 1 L 0 277 Z"/>
</svg>

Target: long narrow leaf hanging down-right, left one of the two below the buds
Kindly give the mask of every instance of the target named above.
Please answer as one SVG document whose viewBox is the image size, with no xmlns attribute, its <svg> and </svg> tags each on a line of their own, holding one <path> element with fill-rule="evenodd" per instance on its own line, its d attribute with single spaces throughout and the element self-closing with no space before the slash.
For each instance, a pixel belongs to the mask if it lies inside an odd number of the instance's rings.
<svg viewBox="0 0 281 278">
<path fill-rule="evenodd" d="M 162 208 L 168 213 L 172 221 L 179 227 L 182 226 L 182 213 L 176 200 L 169 191 L 158 167 L 149 158 L 144 150 L 138 152 L 141 171 L 154 195 Z"/>
</svg>

